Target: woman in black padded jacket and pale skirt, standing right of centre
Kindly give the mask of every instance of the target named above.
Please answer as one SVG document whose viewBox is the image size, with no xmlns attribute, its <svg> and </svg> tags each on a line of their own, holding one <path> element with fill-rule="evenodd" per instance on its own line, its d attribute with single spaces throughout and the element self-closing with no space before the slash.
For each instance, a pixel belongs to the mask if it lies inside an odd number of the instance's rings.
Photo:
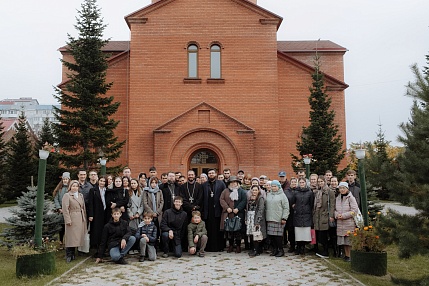
<svg viewBox="0 0 429 286">
<path fill-rule="evenodd" d="M 307 187 L 304 178 L 298 180 L 298 189 L 293 197 L 293 225 L 295 227 L 295 254 L 305 253 L 305 244 L 311 242 L 311 226 L 313 225 L 313 191 Z"/>
</svg>

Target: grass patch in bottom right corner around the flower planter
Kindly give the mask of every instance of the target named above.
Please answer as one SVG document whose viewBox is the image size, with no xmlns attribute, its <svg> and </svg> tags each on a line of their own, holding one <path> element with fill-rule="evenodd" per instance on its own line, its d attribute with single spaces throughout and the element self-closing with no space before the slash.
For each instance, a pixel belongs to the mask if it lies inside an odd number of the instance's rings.
<svg viewBox="0 0 429 286">
<path fill-rule="evenodd" d="M 368 286 L 429 285 L 429 274 L 427 271 L 429 256 L 417 255 L 410 259 L 399 259 L 398 248 L 396 246 L 389 246 L 386 250 L 388 274 L 383 277 L 352 272 L 350 263 L 344 262 L 339 258 L 331 258 L 329 261 Z M 421 280 L 424 278 L 426 280 L 422 282 Z"/>
</svg>

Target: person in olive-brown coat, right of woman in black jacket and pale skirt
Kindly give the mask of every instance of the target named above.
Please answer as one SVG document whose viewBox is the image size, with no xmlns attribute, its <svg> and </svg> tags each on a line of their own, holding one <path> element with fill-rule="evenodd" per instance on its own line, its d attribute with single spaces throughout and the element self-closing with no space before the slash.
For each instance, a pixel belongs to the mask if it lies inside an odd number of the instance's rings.
<svg viewBox="0 0 429 286">
<path fill-rule="evenodd" d="M 318 190 L 315 193 L 313 208 L 313 224 L 316 230 L 317 243 L 321 243 L 323 250 L 316 252 L 321 258 L 329 258 L 328 232 L 329 223 L 335 222 L 335 194 L 326 184 L 325 177 L 317 178 Z"/>
</svg>

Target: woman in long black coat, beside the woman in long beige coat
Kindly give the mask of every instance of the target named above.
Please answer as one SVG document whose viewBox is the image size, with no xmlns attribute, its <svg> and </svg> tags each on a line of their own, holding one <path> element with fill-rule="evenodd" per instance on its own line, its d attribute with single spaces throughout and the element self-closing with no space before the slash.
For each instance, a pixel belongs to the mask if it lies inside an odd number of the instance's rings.
<svg viewBox="0 0 429 286">
<path fill-rule="evenodd" d="M 89 191 L 88 220 L 90 221 L 90 245 L 91 248 L 98 248 L 101 241 L 101 233 L 105 225 L 104 212 L 106 210 L 106 177 L 98 179 L 98 186 Z M 104 200 L 104 203 L 103 203 Z"/>
</svg>

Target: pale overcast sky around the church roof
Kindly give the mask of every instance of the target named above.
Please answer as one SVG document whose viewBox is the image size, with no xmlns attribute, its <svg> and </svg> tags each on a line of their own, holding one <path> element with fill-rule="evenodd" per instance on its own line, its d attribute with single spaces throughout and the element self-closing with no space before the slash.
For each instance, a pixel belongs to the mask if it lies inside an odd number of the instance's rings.
<svg viewBox="0 0 429 286">
<path fill-rule="evenodd" d="M 178 0 L 180 1 L 180 0 Z M 220 1 L 220 0 L 219 0 Z M 129 40 L 124 16 L 150 0 L 99 0 L 108 25 L 105 37 Z M 424 66 L 429 53 L 428 0 L 258 0 L 283 17 L 278 40 L 331 40 L 344 57 L 347 143 L 374 140 L 381 123 L 397 145 L 398 125 L 412 100 L 405 85 L 410 65 Z M 67 33 L 77 35 L 81 0 L 3 1 L 0 9 L 0 99 L 33 97 L 56 104 L 52 86 L 61 81 L 60 53 Z"/>
</svg>

